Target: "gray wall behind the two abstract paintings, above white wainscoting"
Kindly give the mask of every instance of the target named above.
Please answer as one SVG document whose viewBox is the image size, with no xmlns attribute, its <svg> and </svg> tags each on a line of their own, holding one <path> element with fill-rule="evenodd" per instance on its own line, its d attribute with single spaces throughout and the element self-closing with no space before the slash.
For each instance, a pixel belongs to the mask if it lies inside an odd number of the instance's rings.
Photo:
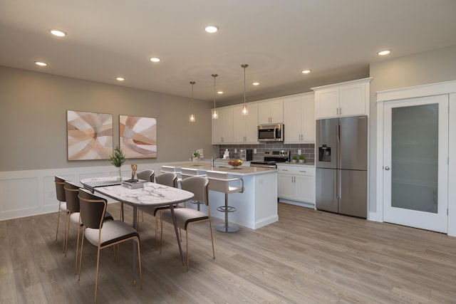
<svg viewBox="0 0 456 304">
<path fill-rule="evenodd" d="M 189 86 L 190 94 L 190 86 Z M 66 110 L 113 114 L 114 145 L 118 115 L 157 119 L 157 159 L 137 164 L 185 161 L 203 148 L 210 157 L 211 103 L 195 100 L 197 122 L 190 123 L 191 99 L 0 66 L 0 171 L 90 167 L 106 160 L 67 160 Z"/>
</svg>

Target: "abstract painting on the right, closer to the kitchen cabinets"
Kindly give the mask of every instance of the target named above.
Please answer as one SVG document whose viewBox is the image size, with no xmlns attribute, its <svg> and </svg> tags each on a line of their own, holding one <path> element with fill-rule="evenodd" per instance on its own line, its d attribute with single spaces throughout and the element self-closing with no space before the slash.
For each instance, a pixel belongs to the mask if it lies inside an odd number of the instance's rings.
<svg viewBox="0 0 456 304">
<path fill-rule="evenodd" d="M 119 116 L 120 148 L 127 158 L 157 158 L 157 120 Z"/>
</svg>

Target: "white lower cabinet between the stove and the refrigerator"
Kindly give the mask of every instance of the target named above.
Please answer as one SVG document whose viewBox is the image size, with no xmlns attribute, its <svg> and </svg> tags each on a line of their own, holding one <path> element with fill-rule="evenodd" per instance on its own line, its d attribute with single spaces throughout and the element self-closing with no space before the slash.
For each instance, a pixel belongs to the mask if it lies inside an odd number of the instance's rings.
<svg viewBox="0 0 456 304">
<path fill-rule="evenodd" d="M 315 204 L 315 168 L 304 165 L 278 164 L 277 196 L 279 199 Z"/>
</svg>

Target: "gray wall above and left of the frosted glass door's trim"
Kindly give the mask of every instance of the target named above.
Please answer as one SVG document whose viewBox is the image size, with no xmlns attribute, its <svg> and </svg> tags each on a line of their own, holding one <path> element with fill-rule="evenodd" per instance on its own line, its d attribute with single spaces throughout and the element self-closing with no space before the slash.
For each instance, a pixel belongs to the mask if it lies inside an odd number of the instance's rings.
<svg viewBox="0 0 456 304">
<path fill-rule="evenodd" d="M 370 113 L 370 206 L 371 212 L 376 211 L 376 132 L 377 108 L 376 92 L 395 88 L 407 88 L 415 85 L 440 83 L 456 80 L 456 46 L 440 48 L 434 51 L 416 53 L 411 56 L 371 63 L 371 113 Z"/>
</svg>

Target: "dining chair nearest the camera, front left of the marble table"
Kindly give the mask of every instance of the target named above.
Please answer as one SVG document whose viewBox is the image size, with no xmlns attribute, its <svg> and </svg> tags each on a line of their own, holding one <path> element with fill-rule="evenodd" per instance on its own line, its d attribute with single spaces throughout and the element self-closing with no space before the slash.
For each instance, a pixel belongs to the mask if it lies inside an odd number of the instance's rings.
<svg viewBox="0 0 456 304">
<path fill-rule="evenodd" d="M 81 240 L 81 256 L 79 259 L 78 281 L 81 280 L 81 268 L 83 262 L 84 239 L 97 246 L 97 269 L 95 275 L 95 303 L 97 301 L 98 290 L 98 270 L 100 266 L 100 250 L 114 246 L 118 248 L 117 258 L 120 263 L 119 244 L 125 241 L 136 241 L 138 250 L 138 266 L 140 270 L 140 288 L 142 289 L 141 255 L 140 255 L 140 235 L 132 226 L 123 221 L 103 221 L 108 201 L 99 196 L 95 196 L 86 189 L 79 189 L 79 204 L 81 207 L 81 221 L 83 223 L 83 236 Z M 133 257 L 134 258 L 134 257 Z M 135 281 L 133 280 L 133 285 Z"/>
</svg>

